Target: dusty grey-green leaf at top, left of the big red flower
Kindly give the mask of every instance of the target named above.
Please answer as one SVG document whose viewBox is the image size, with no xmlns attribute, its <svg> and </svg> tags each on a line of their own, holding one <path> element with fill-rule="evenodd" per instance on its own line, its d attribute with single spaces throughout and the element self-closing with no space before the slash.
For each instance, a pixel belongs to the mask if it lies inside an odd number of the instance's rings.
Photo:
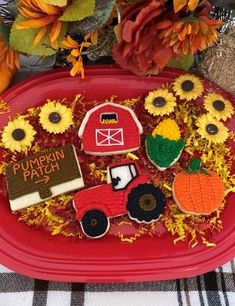
<svg viewBox="0 0 235 306">
<path fill-rule="evenodd" d="M 100 28 L 109 18 L 115 0 L 98 0 L 93 16 L 87 17 L 84 20 L 76 22 L 73 26 L 72 31 L 81 32 L 87 34 L 93 32 L 97 28 Z"/>
</svg>

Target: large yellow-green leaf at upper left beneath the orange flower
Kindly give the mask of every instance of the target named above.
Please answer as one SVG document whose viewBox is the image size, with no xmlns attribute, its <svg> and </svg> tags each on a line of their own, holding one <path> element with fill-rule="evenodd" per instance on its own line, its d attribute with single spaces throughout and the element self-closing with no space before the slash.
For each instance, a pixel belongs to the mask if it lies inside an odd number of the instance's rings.
<svg viewBox="0 0 235 306">
<path fill-rule="evenodd" d="M 11 47 L 16 51 L 27 53 L 30 55 L 50 56 L 55 54 L 57 50 L 54 50 L 51 47 L 47 34 L 42 38 L 41 42 L 38 45 L 33 47 L 34 38 L 37 35 L 37 33 L 40 31 L 40 29 L 23 29 L 23 30 L 16 29 L 16 24 L 24 20 L 27 20 L 27 18 L 25 18 L 22 15 L 18 15 L 12 26 L 10 34 Z M 67 24 L 63 22 L 61 32 L 58 37 L 59 46 L 61 44 L 62 39 L 65 36 L 66 30 L 67 30 Z"/>
</svg>

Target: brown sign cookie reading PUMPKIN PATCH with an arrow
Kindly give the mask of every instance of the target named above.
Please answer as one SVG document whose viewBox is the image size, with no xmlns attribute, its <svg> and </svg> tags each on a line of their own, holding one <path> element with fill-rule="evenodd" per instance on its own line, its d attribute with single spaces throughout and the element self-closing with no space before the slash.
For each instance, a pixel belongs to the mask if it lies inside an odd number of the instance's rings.
<svg viewBox="0 0 235 306">
<path fill-rule="evenodd" d="M 16 211 L 84 187 L 72 145 L 41 152 L 6 168 L 11 209 Z"/>
</svg>

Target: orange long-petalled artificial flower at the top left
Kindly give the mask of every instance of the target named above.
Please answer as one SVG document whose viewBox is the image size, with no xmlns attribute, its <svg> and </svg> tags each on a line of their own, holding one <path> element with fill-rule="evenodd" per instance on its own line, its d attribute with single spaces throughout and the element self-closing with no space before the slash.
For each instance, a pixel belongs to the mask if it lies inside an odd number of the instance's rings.
<svg viewBox="0 0 235 306">
<path fill-rule="evenodd" d="M 19 11 L 27 20 L 18 22 L 16 28 L 40 29 L 34 39 L 34 46 L 48 33 L 51 46 L 56 49 L 62 27 L 59 18 L 63 14 L 63 8 L 47 4 L 43 0 L 20 0 L 20 4 Z"/>
</svg>

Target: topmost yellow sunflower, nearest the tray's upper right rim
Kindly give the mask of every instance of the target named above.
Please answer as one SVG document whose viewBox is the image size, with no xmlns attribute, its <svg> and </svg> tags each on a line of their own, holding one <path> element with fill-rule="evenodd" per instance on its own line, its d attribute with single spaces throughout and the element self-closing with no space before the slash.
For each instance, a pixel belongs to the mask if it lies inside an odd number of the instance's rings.
<svg viewBox="0 0 235 306">
<path fill-rule="evenodd" d="M 193 74 L 183 74 L 173 82 L 173 90 L 182 100 L 195 100 L 203 93 L 202 81 Z"/>
</svg>

